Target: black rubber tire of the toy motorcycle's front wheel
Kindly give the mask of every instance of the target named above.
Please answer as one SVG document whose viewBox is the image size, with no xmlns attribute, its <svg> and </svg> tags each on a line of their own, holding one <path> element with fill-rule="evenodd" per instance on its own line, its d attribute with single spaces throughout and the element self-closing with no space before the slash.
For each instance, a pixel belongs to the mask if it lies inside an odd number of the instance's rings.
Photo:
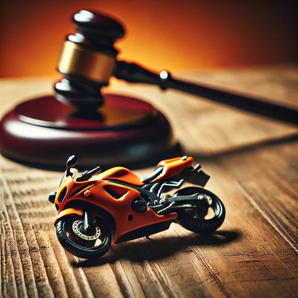
<svg viewBox="0 0 298 298">
<path fill-rule="evenodd" d="M 102 257 L 105 253 L 108 252 L 108 250 L 111 247 L 111 239 L 112 239 L 111 231 L 106 227 L 105 224 L 101 224 L 100 225 L 101 235 L 104 234 L 104 239 L 102 241 L 102 244 L 100 244 L 98 248 L 94 248 L 94 249 L 81 247 L 76 243 L 72 242 L 72 240 L 70 240 L 67 237 L 66 231 L 65 231 L 65 224 L 69 220 L 75 221 L 76 219 L 77 217 L 75 216 L 70 216 L 70 217 L 67 216 L 65 218 L 62 218 L 56 224 L 56 235 L 60 244 L 68 252 L 82 259 L 96 259 L 98 257 Z"/>
</svg>

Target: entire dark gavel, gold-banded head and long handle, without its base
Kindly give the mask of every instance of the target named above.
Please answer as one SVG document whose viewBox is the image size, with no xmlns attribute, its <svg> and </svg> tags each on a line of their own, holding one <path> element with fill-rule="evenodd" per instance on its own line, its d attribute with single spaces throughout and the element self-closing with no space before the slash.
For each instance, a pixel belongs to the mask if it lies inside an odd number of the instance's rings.
<svg viewBox="0 0 298 298">
<path fill-rule="evenodd" d="M 256 98 L 212 89 L 175 80 L 170 72 L 154 73 L 135 63 L 118 61 L 114 48 L 117 39 L 124 36 L 123 26 L 116 20 L 99 13 L 80 10 L 73 16 L 77 33 L 69 35 L 64 42 L 58 70 L 63 79 L 56 83 L 58 100 L 68 101 L 79 108 L 82 115 L 96 111 L 103 104 L 100 93 L 108 86 L 109 79 L 129 83 L 147 83 L 195 94 L 244 111 L 298 124 L 298 111 Z"/>
</svg>

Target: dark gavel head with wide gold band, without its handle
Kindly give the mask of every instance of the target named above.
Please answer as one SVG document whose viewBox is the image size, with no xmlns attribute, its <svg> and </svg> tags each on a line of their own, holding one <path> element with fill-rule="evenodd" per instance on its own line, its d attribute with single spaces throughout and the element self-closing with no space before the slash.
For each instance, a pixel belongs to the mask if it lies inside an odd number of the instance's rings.
<svg viewBox="0 0 298 298">
<path fill-rule="evenodd" d="M 100 88 L 113 75 L 118 54 L 114 43 L 125 31 L 114 19 L 86 10 L 75 13 L 72 21 L 77 32 L 63 44 L 58 63 L 63 79 L 55 84 L 55 91 L 58 100 L 90 113 L 103 103 Z"/>
</svg>

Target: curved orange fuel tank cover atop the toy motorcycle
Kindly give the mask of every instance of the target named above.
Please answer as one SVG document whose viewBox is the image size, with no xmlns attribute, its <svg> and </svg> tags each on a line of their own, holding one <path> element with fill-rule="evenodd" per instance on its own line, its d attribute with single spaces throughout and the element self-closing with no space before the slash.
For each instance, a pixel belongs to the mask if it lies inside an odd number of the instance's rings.
<svg viewBox="0 0 298 298">
<path fill-rule="evenodd" d="M 128 170 L 125 167 L 114 167 L 109 170 L 106 170 L 103 173 L 100 173 L 99 175 L 96 175 L 93 179 L 100 179 L 100 180 L 114 180 L 118 182 L 128 183 L 133 186 L 143 186 L 145 185 L 143 182 L 141 182 L 140 178 L 131 172 L 131 170 Z"/>
</svg>

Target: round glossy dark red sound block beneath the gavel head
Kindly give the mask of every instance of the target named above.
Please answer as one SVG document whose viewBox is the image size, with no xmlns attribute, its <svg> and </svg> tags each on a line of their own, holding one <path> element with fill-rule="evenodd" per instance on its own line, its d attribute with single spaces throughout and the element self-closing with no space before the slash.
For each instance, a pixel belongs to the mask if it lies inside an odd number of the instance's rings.
<svg viewBox="0 0 298 298">
<path fill-rule="evenodd" d="M 70 155 L 77 156 L 80 167 L 138 167 L 152 159 L 159 162 L 176 144 L 161 112 L 113 94 L 106 94 L 105 105 L 90 115 L 48 96 L 21 103 L 0 122 L 3 155 L 53 169 L 64 168 Z"/>
</svg>

